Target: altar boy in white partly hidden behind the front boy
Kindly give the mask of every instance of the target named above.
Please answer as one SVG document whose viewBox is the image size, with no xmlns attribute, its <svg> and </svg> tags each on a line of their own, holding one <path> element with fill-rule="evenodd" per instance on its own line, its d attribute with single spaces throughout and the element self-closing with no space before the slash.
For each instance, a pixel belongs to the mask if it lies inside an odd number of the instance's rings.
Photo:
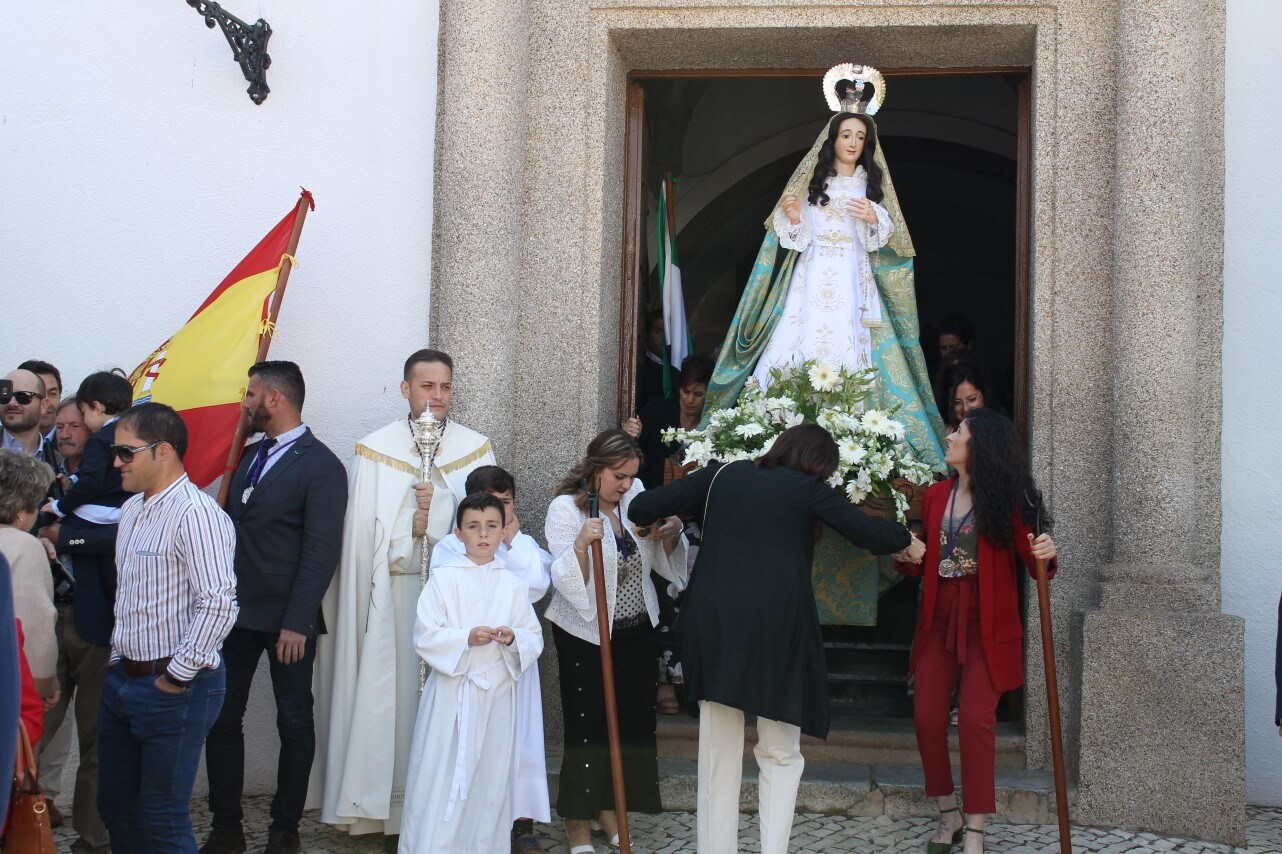
<svg viewBox="0 0 1282 854">
<path fill-rule="evenodd" d="M 549 569 L 553 557 L 520 530 L 517 518 L 517 481 L 497 465 L 482 465 L 468 474 L 467 494 L 492 495 L 504 507 L 503 540 L 496 559 L 528 590 L 533 605 L 551 583 Z M 465 551 L 463 541 L 449 535 L 432 548 L 432 569 L 455 560 Z M 535 822 L 551 821 L 547 799 L 547 763 L 544 757 L 544 696 L 538 668 L 531 667 L 517 681 L 517 768 L 512 781 L 512 850 L 513 854 L 541 851 L 535 835 Z"/>
</svg>

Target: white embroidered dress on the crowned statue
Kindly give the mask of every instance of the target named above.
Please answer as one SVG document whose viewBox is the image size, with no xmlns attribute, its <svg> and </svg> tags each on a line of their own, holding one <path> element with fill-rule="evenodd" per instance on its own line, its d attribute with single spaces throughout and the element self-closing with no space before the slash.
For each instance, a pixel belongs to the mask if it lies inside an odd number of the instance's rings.
<svg viewBox="0 0 1282 854">
<path fill-rule="evenodd" d="M 779 245 L 801 253 L 783 317 L 762 353 L 753 376 L 764 387 L 770 368 L 819 359 L 847 368 L 870 368 L 872 335 L 882 321 L 881 296 L 868 254 L 886 245 L 894 226 L 877 203 L 877 223 L 859 219 L 846 205 L 867 197 L 868 173 L 856 167 L 850 177 L 828 180 L 827 205 L 801 200 L 801 222 L 792 224 L 782 208 L 774 210 Z"/>
</svg>

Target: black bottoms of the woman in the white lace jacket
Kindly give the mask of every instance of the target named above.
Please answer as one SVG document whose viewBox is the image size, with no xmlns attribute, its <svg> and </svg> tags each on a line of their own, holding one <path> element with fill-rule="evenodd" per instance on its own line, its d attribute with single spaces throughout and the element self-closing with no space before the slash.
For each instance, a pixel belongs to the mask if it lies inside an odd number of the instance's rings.
<svg viewBox="0 0 1282 854">
<path fill-rule="evenodd" d="M 560 663 L 562 759 L 556 812 L 562 818 L 595 819 L 614 809 L 610 741 L 605 723 L 601 648 L 553 626 Z M 649 624 L 615 630 L 612 639 L 614 695 L 619 710 L 619 746 L 628 812 L 659 813 L 659 748 L 655 739 L 655 655 L 658 642 Z"/>
</svg>

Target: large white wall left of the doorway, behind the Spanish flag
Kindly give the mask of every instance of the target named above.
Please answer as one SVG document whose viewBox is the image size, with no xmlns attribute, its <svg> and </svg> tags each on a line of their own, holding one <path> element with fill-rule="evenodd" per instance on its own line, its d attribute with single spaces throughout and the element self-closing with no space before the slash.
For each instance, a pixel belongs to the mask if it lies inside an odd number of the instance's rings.
<svg viewBox="0 0 1282 854">
<path fill-rule="evenodd" d="M 401 362 L 427 344 L 438 5 L 226 5 L 274 31 L 262 106 L 182 0 L 0 4 L 0 367 L 47 359 L 72 390 L 132 369 L 303 185 L 317 209 L 272 356 L 303 367 L 306 421 L 347 458 L 404 412 Z M 259 690 L 259 787 L 272 721 Z"/>
</svg>

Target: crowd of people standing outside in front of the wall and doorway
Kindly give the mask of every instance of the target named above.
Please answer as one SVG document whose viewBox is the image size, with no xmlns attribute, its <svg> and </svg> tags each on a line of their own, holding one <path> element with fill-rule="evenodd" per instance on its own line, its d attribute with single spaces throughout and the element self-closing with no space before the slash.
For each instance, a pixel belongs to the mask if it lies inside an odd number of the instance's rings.
<svg viewBox="0 0 1282 854">
<path fill-rule="evenodd" d="M 965 807 L 978 817 L 967 827 L 981 833 L 996 698 L 1022 677 L 1015 560 L 1054 558 L 1011 504 L 1035 487 L 1009 421 L 982 398 L 959 405 L 958 476 L 927 492 L 923 544 L 824 483 L 837 449 L 814 424 L 755 463 L 683 471 L 660 431 L 701 421 L 710 373 L 686 359 L 670 399 L 592 439 L 555 486 L 540 545 L 490 440 L 451 419 L 454 365 L 437 350 L 406 359 L 406 413 L 362 439 L 350 468 L 304 422 L 299 367 L 253 365 L 242 408 L 255 437 L 223 505 L 185 473 L 178 413 L 135 405 L 122 373 L 94 373 L 64 400 L 54 365 L 10 372 L 0 563 L 21 639 L 21 718 L 51 805 L 74 714 L 74 850 L 246 850 L 242 724 L 264 654 L 279 737 L 267 851 L 300 850 L 309 807 L 351 833 L 382 833 L 388 850 L 541 850 L 536 823 L 553 804 L 533 605 L 549 591 L 556 813 L 573 854 L 595 851 L 594 827 L 617 845 L 590 558 L 600 544 L 628 808 L 662 809 L 654 716 L 681 708 L 679 686 L 700 721 L 700 851 L 737 850 L 745 713 L 756 716 L 763 850 L 785 851 L 800 735 L 828 730 L 809 578 L 820 521 L 924 574 L 913 667 L 927 790 L 951 845 L 962 819 L 947 710 L 960 683 Z M 950 394 L 964 398 L 964 382 Z M 444 423 L 427 478 L 413 428 L 424 410 Z M 923 573 L 932 563 L 940 572 Z M 968 571 L 979 564 L 991 572 Z M 995 610 L 979 609 L 987 600 Z M 197 849 L 201 755 L 213 827 Z"/>
</svg>

